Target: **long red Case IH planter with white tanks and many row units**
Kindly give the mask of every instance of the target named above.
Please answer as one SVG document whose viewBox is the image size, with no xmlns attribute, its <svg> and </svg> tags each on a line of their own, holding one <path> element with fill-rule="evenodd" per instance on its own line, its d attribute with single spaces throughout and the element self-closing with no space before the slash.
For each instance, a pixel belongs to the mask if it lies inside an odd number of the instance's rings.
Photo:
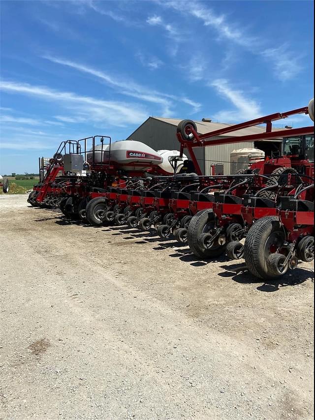
<svg viewBox="0 0 315 420">
<path fill-rule="evenodd" d="M 66 217 L 80 217 L 95 226 L 155 228 L 162 238 L 174 235 L 188 241 L 198 258 L 226 252 L 232 259 L 244 257 L 253 275 L 276 278 L 295 269 L 299 260 L 314 259 L 314 127 L 272 132 L 273 121 L 294 114 L 309 114 L 314 120 L 314 100 L 309 107 L 203 135 L 193 121 L 183 120 L 177 127 L 181 150 L 179 156 L 173 151 L 168 166 L 158 152 L 139 142 L 111 145 L 108 138 L 104 145 L 105 137 L 100 136 L 63 142 L 29 201 L 51 208 L 59 204 Z M 218 139 L 262 123 L 264 133 Z M 275 137 L 284 139 L 280 156 L 266 157 L 235 175 L 203 176 L 194 155 L 195 147 Z M 87 151 L 88 140 L 92 149 Z M 67 148 L 73 151 L 63 156 L 61 150 Z M 184 149 L 195 168 L 192 174 L 178 174 L 184 167 Z M 168 157 L 172 153 L 161 152 Z"/>
</svg>

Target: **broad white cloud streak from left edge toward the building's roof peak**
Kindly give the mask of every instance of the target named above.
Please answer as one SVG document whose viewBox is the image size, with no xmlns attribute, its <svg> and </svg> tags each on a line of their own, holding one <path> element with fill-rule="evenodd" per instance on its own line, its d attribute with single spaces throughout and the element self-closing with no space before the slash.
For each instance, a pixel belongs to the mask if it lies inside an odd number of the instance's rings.
<svg viewBox="0 0 315 420">
<path fill-rule="evenodd" d="M 77 95 L 73 92 L 53 90 L 45 86 L 2 81 L 0 89 L 58 102 L 60 106 L 75 112 L 76 115 L 102 124 L 102 126 L 106 124 L 117 126 L 136 124 L 143 121 L 147 116 L 145 110 L 137 104 L 105 101 L 91 96 Z"/>
</svg>

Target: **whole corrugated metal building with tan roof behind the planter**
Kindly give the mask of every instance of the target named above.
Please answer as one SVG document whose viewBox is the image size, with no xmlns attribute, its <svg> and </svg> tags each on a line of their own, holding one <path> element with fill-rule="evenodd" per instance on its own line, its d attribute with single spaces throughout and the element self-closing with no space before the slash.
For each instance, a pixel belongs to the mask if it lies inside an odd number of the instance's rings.
<svg viewBox="0 0 315 420">
<path fill-rule="evenodd" d="M 179 150 L 179 142 L 176 137 L 176 128 L 181 120 L 173 118 L 149 117 L 143 122 L 126 140 L 135 140 L 143 142 L 154 150 Z M 231 124 L 223 124 L 221 122 L 204 122 L 194 121 L 199 134 L 209 133 L 219 130 Z M 280 128 L 273 128 L 273 131 Z M 243 128 L 235 131 L 233 134 L 225 134 L 224 136 L 214 137 L 226 138 L 234 136 L 243 136 L 249 134 L 259 134 L 265 131 L 264 127 L 254 126 Z M 235 149 L 253 148 L 264 150 L 269 154 L 270 150 L 280 150 L 281 140 L 273 141 L 263 140 L 260 142 L 242 142 L 232 143 L 221 146 L 208 146 L 206 148 L 195 148 L 194 152 L 198 159 L 200 168 L 205 175 L 210 175 L 210 166 L 212 164 L 223 163 L 224 174 L 230 174 L 230 153 Z"/>
</svg>

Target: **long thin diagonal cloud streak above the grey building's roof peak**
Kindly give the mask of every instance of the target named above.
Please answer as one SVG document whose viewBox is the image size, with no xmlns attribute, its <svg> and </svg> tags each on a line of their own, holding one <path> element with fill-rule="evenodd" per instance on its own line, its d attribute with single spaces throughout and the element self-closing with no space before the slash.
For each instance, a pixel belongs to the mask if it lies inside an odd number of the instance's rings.
<svg viewBox="0 0 315 420">
<path fill-rule="evenodd" d="M 184 103 L 187 103 L 188 105 L 193 103 L 194 112 L 195 112 L 195 108 L 200 105 L 194 102 L 193 100 L 190 100 L 189 98 L 184 98 L 185 100 L 183 100 L 183 97 L 181 96 L 175 96 L 168 93 L 163 93 L 163 92 L 148 88 L 147 86 L 139 85 L 138 83 L 135 83 L 134 81 L 128 80 L 126 78 L 119 79 L 117 77 L 113 77 L 112 75 L 105 73 L 104 71 L 94 69 L 84 64 L 80 64 L 80 63 L 70 61 L 70 60 L 63 60 L 63 59 L 48 56 L 48 55 L 44 56 L 44 58 L 47 60 L 56 62 L 58 64 L 62 64 L 62 65 L 66 65 L 68 67 L 74 68 L 83 73 L 91 74 L 95 76 L 96 78 L 100 79 L 106 85 L 117 90 L 120 94 L 131 96 L 145 102 L 158 104 L 162 107 L 162 116 L 165 116 L 165 117 L 171 116 L 173 102 L 175 101 L 184 102 Z"/>
</svg>

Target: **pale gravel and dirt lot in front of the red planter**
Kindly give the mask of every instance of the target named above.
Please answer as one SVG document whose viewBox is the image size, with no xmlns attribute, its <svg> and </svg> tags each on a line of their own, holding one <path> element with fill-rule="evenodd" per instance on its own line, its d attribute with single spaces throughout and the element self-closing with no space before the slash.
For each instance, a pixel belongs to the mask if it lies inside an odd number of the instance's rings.
<svg viewBox="0 0 315 420">
<path fill-rule="evenodd" d="M 313 264 L 243 262 L 0 196 L 0 419 L 312 419 Z"/>
</svg>

